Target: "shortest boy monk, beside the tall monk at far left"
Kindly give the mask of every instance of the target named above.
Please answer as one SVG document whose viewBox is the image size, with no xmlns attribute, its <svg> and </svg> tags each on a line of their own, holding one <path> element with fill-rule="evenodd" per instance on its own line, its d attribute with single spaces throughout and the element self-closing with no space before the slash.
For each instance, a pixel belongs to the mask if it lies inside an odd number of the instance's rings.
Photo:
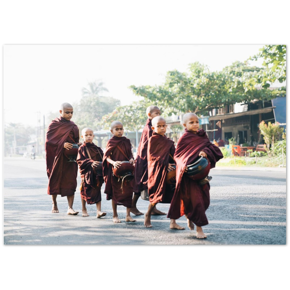
<svg viewBox="0 0 290 290">
<path fill-rule="evenodd" d="M 79 147 L 77 155 L 77 163 L 81 173 L 81 204 L 82 216 L 89 216 L 86 203 L 96 204 L 97 218 L 106 215 L 101 211 L 101 187 L 104 183 L 103 176 L 96 175 L 94 168 L 97 168 L 99 162 L 103 160 L 103 150 L 93 143 L 95 137 L 91 128 L 84 128 L 81 131 L 81 137 L 84 139 L 84 144 Z"/>
</svg>

